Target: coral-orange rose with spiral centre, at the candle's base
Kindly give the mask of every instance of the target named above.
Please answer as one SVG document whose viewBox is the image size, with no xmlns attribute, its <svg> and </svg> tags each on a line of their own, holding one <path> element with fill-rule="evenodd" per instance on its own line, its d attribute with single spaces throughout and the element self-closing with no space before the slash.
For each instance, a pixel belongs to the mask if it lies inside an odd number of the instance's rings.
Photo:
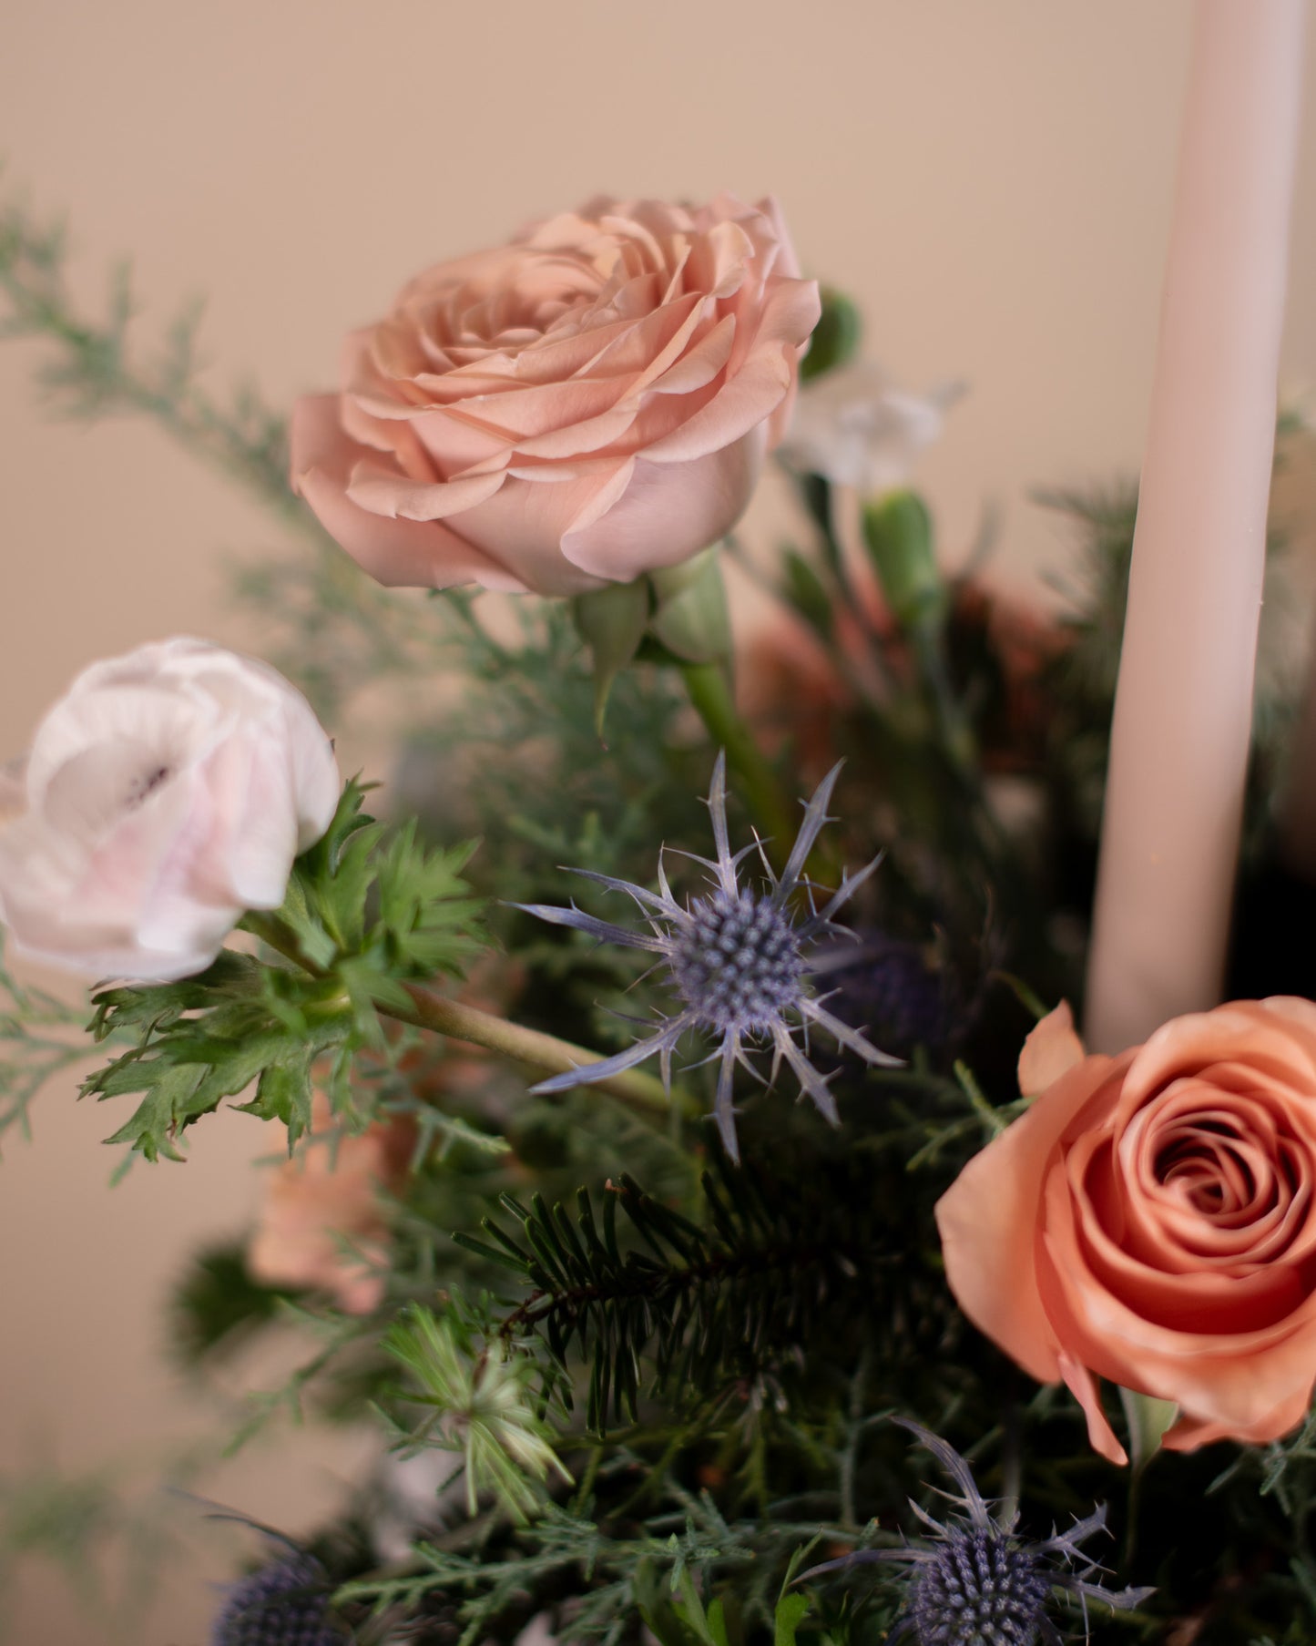
<svg viewBox="0 0 1316 1646">
<path fill-rule="evenodd" d="M 1165 1445 L 1275 1440 L 1316 1381 L 1316 1004 L 1235 1001 L 1084 1057 L 1028 1037 L 1033 1106 L 936 1208 L 966 1315 L 1127 1462 L 1097 1378 L 1173 1401 Z"/>
</svg>

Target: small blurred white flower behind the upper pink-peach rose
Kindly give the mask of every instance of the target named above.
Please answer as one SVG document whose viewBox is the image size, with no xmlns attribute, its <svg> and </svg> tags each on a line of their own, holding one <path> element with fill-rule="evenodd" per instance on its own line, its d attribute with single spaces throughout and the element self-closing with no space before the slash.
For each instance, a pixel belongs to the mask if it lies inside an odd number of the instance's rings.
<svg viewBox="0 0 1316 1646">
<path fill-rule="evenodd" d="M 908 484 L 962 392 L 962 384 L 941 384 L 926 395 L 905 393 L 878 365 L 855 360 L 801 387 L 780 454 L 832 486 L 890 492 Z"/>
</svg>

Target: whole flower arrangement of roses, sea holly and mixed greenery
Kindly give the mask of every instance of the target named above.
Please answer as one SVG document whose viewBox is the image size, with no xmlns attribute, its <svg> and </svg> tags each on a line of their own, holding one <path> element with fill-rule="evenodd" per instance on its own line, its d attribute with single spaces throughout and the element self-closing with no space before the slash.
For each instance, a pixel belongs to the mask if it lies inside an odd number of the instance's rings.
<svg viewBox="0 0 1316 1646">
<path fill-rule="evenodd" d="M 192 639 L 92 663 L 0 788 L 8 951 L 92 979 L 64 1007 L 0 969 L 0 1126 L 87 1016 L 128 1159 L 265 1123 L 260 1226 L 197 1259 L 179 1346 L 291 1323 L 281 1393 L 380 1429 L 345 1508 L 252 1523 L 215 1646 L 1311 1639 L 1298 695 L 1249 675 L 1216 774 L 1232 950 L 1207 918 L 1140 946 L 1128 887 L 1163 886 L 1120 881 L 1115 704 L 1161 471 L 1054 499 L 1063 616 L 951 576 L 911 466 L 957 390 L 893 388 L 780 209 L 730 196 L 600 198 L 428 270 L 286 421 L 141 392 L 18 209 L 0 293 L 74 393 L 304 535 L 262 573 L 281 672 Z M 745 635 L 724 573 L 773 454 L 799 532 Z M 375 797 L 331 732 L 385 670 L 461 695 Z M 1212 966 L 1237 999 L 1163 1009 Z"/>
</svg>

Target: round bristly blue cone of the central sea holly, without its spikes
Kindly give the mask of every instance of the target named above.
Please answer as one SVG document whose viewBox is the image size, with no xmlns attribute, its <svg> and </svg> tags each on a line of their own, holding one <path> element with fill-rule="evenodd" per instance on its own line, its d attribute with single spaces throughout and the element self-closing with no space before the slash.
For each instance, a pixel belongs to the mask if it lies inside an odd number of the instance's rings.
<svg viewBox="0 0 1316 1646">
<path fill-rule="evenodd" d="M 770 1029 L 801 994 L 804 958 L 790 920 L 748 890 L 701 899 L 689 912 L 671 953 L 681 999 L 712 1029 Z"/>
</svg>

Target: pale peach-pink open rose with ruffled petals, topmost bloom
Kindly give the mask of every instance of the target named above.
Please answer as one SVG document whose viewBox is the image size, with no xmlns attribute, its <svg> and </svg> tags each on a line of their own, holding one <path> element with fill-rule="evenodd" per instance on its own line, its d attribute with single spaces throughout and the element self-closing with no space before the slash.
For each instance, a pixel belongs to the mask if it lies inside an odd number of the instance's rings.
<svg viewBox="0 0 1316 1646">
<path fill-rule="evenodd" d="M 579 594 L 717 542 L 818 323 L 775 202 L 594 199 L 418 275 L 293 413 L 293 484 L 380 583 Z"/>
</svg>

